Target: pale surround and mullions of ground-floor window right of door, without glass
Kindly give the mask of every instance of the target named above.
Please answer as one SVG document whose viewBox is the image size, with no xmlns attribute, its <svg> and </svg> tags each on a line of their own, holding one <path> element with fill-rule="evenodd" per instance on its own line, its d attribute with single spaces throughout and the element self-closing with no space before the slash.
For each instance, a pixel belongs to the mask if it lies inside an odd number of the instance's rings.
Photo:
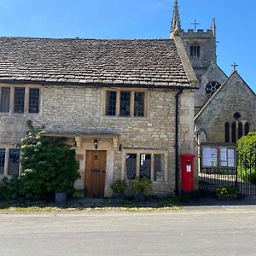
<svg viewBox="0 0 256 256">
<path fill-rule="evenodd" d="M 157 149 L 129 149 L 124 148 L 122 153 L 122 179 L 127 180 L 126 173 L 126 154 L 137 154 L 137 169 L 136 169 L 136 177 L 140 177 L 140 155 L 141 154 L 150 154 L 151 162 L 150 162 L 150 177 L 152 183 L 167 183 L 168 182 L 168 151 L 166 150 L 157 150 Z M 163 154 L 164 155 L 164 180 L 163 181 L 155 181 L 154 180 L 154 154 Z M 132 180 L 132 179 L 129 179 Z"/>
</svg>

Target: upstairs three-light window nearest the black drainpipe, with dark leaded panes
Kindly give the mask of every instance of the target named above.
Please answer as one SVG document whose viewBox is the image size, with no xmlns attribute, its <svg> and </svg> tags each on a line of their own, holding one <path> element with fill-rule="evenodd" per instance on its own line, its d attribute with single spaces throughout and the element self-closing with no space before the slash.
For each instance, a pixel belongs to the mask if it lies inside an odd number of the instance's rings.
<svg viewBox="0 0 256 256">
<path fill-rule="evenodd" d="M 120 117 L 145 116 L 145 92 L 107 90 L 105 114 Z"/>
</svg>

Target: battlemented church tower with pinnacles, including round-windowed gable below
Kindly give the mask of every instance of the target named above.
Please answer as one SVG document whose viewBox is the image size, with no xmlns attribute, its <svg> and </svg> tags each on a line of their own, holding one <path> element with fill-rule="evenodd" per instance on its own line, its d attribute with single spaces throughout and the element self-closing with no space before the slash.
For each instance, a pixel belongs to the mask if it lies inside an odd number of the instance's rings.
<svg viewBox="0 0 256 256">
<path fill-rule="evenodd" d="M 199 87 L 195 92 L 195 111 L 198 111 L 227 77 L 217 65 L 215 19 L 212 19 L 212 26 L 207 31 L 197 29 L 199 24 L 196 20 L 193 24 L 193 29 L 182 29 L 178 3 L 174 0 L 170 38 L 180 36 L 195 71 Z"/>
</svg>

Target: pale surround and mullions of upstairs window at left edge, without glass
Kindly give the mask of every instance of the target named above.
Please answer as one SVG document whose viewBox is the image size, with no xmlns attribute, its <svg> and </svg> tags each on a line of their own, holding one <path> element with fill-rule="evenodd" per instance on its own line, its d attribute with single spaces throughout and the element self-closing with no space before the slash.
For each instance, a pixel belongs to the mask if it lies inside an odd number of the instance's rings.
<svg viewBox="0 0 256 256">
<path fill-rule="evenodd" d="M 38 115 L 42 113 L 42 86 L 37 84 L 0 84 L 0 89 L 4 87 L 10 88 L 10 99 L 9 99 L 9 112 L 0 112 L 0 115 L 4 114 L 29 114 L 29 115 Z M 24 112 L 22 113 L 15 113 L 15 88 L 25 88 L 25 98 L 24 98 Z M 30 89 L 39 89 L 39 99 L 38 99 L 38 113 L 29 113 L 29 90 Z M 0 99 L 1 99 L 1 92 L 0 90 Z"/>
</svg>

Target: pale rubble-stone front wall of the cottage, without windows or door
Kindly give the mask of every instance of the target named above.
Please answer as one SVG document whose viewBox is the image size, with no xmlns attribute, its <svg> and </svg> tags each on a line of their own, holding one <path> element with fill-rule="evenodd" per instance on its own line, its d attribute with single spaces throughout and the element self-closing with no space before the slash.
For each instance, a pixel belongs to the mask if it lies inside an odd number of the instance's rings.
<svg viewBox="0 0 256 256">
<path fill-rule="evenodd" d="M 147 148 L 166 150 L 168 154 L 166 183 L 155 183 L 155 193 L 172 193 L 175 187 L 175 95 L 177 90 L 147 90 L 147 116 L 143 118 L 107 117 L 103 113 L 104 90 L 82 86 L 44 86 L 41 88 L 41 111 L 39 114 L 0 114 L 0 145 L 20 143 L 26 135 L 26 121 L 45 125 L 46 131 L 54 133 L 115 133 L 119 134 L 119 144 L 123 148 Z M 194 91 L 184 90 L 180 101 L 179 144 L 181 153 L 193 153 Z M 84 154 L 93 141 L 84 140 L 78 154 Z M 104 141 L 99 142 L 114 157 L 113 178 L 120 178 L 122 154 L 119 149 Z M 81 181 L 76 187 L 83 189 L 84 159 L 80 162 Z M 108 192 L 109 183 L 108 180 Z"/>
</svg>

